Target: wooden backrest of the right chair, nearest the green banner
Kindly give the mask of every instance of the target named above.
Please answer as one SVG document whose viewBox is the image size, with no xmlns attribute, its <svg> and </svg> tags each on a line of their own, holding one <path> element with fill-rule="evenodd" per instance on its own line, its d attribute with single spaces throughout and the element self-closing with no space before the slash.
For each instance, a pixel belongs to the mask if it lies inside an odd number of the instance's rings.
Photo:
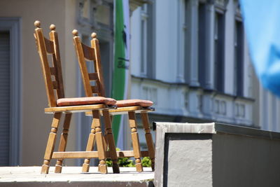
<svg viewBox="0 0 280 187">
<path fill-rule="evenodd" d="M 105 97 L 105 88 L 103 81 L 103 72 L 99 51 L 99 41 L 97 39 L 97 34 L 92 33 L 91 47 L 86 46 L 80 41 L 78 36 L 78 31 L 73 30 L 72 34 L 74 46 L 76 49 L 78 62 L 80 66 L 80 72 L 83 78 L 83 85 L 85 88 L 85 95 L 87 97 L 92 96 L 102 96 Z M 86 61 L 92 61 L 94 64 L 94 73 L 88 73 Z M 91 85 L 90 82 L 94 81 L 95 85 Z"/>
</svg>

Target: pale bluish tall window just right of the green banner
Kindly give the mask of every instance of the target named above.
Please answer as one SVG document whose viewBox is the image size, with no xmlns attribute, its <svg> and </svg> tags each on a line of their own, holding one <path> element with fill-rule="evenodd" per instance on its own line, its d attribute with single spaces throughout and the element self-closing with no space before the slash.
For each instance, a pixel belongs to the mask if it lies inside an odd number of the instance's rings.
<svg viewBox="0 0 280 187">
<path fill-rule="evenodd" d="M 154 2 L 141 7 L 141 75 L 155 78 Z"/>
</svg>

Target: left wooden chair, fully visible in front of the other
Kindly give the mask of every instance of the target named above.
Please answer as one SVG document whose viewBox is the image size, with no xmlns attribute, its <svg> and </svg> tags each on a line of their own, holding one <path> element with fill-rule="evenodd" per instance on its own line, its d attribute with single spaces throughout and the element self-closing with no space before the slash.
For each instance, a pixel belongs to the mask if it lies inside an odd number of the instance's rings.
<svg viewBox="0 0 280 187">
<path fill-rule="evenodd" d="M 41 23 L 39 21 L 34 22 L 35 39 L 38 49 L 38 54 L 41 59 L 41 67 L 43 70 L 43 78 L 45 81 L 45 89 L 48 95 L 48 108 L 45 108 L 45 113 L 53 113 L 52 125 L 50 134 L 48 137 L 48 144 L 45 148 L 44 161 L 41 169 L 42 174 L 48 174 L 50 167 L 50 160 L 57 159 L 55 165 L 55 172 L 62 172 L 62 161 L 64 158 L 99 158 L 99 171 L 107 173 L 106 158 L 112 158 L 113 172 L 119 173 L 119 168 L 116 158 L 116 147 L 110 147 L 111 150 L 115 150 L 115 157 L 113 153 L 106 151 L 103 135 L 100 124 L 100 111 L 103 113 L 109 112 L 109 106 L 116 104 L 115 99 L 105 97 L 78 97 L 78 98 L 64 98 L 64 86 L 62 81 L 62 66 L 59 55 L 59 43 L 57 32 L 55 32 L 55 25 L 50 25 L 50 39 L 45 39 L 43 36 L 43 30 L 41 29 Z M 48 62 L 48 55 L 52 56 L 52 65 Z M 69 132 L 69 125 L 71 115 L 74 112 L 92 113 L 92 130 L 90 132 L 89 142 L 97 140 L 97 151 L 93 150 L 93 144 L 87 144 L 87 151 L 72 151 L 66 152 L 66 143 Z M 62 117 L 62 113 L 65 113 L 62 135 L 60 137 L 59 148 L 57 152 L 54 152 L 55 140 L 57 137 L 57 128 L 59 121 Z M 104 116 L 106 121 L 110 121 L 109 116 Z M 107 131 L 111 130 L 111 124 L 107 124 Z M 114 146 L 114 144 L 110 144 Z M 111 156 L 113 155 L 113 156 Z M 83 167 L 88 167 L 87 162 Z"/>
</svg>

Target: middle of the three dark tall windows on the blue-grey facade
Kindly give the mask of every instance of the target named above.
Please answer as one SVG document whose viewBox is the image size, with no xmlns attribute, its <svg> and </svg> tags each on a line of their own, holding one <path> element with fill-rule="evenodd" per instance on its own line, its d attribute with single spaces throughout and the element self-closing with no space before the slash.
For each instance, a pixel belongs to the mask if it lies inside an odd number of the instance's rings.
<svg viewBox="0 0 280 187">
<path fill-rule="evenodd" d="M 224 49 L 225 49 L 225 19 L 223 13 L 215 13 L 214 30 L 214 66 L 215 66 L 215 87 L 219 92 L 224 92 Z"/>
</svg>

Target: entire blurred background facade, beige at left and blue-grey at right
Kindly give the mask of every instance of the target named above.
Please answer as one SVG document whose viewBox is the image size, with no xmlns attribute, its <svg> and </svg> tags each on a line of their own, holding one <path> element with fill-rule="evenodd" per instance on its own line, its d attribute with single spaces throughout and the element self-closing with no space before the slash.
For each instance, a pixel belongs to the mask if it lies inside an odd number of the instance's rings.
<svg viewBox="0 0 280 187">
<path fill-rule="evenodd" d="M 238 1 L 130 0 L 130 9 L 130 98 L 155 103 L 151 121 L 280 130 L 279 99 L 254 76 Z M 52 116 L 43 113 L 47 97 L 34 21 L 41 20 L 45 36 L 50 24 L 57 26 L 66 97 L 77 97 L 83 85 L 71 31 L 78 29 L 85 43 L 97 32 L 110 96 L 113 19 L 113 0 L 0 1 L 0 165 L 43 162 Z M 90 120 L 74 116 L 67 150 L 85 149 Z M 125 134 L 130 147 L 128 128 Z"/>
</svg>

